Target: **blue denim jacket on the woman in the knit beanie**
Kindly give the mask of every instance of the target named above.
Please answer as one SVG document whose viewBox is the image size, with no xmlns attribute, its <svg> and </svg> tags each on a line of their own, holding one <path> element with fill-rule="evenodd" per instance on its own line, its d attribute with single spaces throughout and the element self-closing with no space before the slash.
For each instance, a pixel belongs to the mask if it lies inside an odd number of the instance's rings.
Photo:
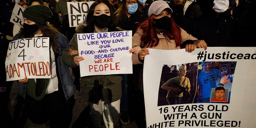
<svg viewBox="0 0 256 128">
<path fill-rule="evenodd" d="M 19 38 L 19 34 L 17 34 L 16 36 L 14 36 L 13 40 L 18 40 Z M 73 82 L 73 79 L 70 75 L 70 71 L 69 71 L 69 68 L 68 66 L 62 61 L 62 50 L 64 48 L 66 48 L 66 46 L 69 44 L 69 41 L 68 39 L 66 38 L 66 36 L 60 34 L 60 33 L 57 33 L 57 36 L 56 36 L 57 40 L 58 40 L 58 57 L 57 57 L 57 61 L 58 62 L 58 72 L 59 72 L 59 75 L 60 75 L 60 82 L 62 84 L 62 88 L 64 90 L 64 94 L 65 94 L 65 97 L 66 99 L 68 100 L 68 98 L 70 98 L 76 88 L 75 88 L 75 85 L 74 85 L 74 82 Z M 26 83 L 20 83 L 20 86 L 19 86 L 19 94 L 25 98 L 25 94 L 26 94 Z"/>
</svg>

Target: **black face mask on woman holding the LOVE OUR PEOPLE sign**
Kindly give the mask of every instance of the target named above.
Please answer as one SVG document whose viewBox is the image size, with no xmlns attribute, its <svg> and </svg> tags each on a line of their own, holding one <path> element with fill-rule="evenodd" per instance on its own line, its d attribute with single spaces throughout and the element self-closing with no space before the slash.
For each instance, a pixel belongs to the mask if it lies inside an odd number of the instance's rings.
<svg viewBox="0 0 256 128">
<path fill-rule="evenodd" d="M 92 16 L 92 20 L 94 21 L 94 24 L 96 24 L 98 27 L 106 28 L 112 19 L 111 16 L 101 14 L 99 16 Z"/>
</svg>

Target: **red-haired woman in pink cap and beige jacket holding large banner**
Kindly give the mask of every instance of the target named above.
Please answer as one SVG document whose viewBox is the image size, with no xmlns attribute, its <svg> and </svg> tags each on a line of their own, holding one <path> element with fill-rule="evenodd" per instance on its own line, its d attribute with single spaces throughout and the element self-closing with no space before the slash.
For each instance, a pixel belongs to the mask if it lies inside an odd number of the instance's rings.
<svg viewBox="0 0 256 128">
<path fill-rule="evenodd" d="M 154 1 L 148 9 L 148 16 L 148 20 L 140 24 L 132 36 L 132 47 L 140 46 L 142 48 L 138 54 L 132 53 L 133 64 L 143 64 L 144 57 L 149 54 L 147 48 L 175 50 L 184 47 L 187 52 L 194 51 L 196 47 L 207 48 L 204 40 L 197 40 L 174 22 L 172 9 L 165 1 Z M 138 83 L 136 83 L 136 87 L 142 93 L 141 96 L 144 93 L 142 78 L 143 68 L 138 73 Z M 138 103 L 141 103 L 140 106 L 144 106 L 144 100 L 138 101 Z M 138 112 L 141 111 L 145 112 L 145 110 L 138 110 Z"/>
</svg>

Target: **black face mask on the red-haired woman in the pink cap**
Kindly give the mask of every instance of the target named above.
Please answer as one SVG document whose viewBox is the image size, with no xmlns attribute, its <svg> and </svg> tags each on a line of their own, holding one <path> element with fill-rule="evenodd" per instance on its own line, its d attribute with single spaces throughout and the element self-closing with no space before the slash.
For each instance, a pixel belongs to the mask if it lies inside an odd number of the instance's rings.
<svg viewBox="0 0 256 128">
<path fill-rule="evenodd" d="M 166 28 L 170 28 L 171 26 L 171 18 L 169 16 L 164 16 L 159 19 L 153 19 L 155 24 L 154 26 L 160 29 L 166 30 Z"/>
</svg>

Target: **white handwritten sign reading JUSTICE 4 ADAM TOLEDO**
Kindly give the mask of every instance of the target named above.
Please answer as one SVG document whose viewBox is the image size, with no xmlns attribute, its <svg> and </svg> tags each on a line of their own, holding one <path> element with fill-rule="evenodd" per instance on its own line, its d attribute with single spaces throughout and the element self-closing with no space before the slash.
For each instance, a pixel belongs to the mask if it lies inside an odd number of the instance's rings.
<svg viewBox="0 0 256 128">
<path fill-rule="evenodd" d="M 6 61 L 6 81 L 50 78 L 49 38 L 25 38 L 10 42 Z"/>
</svg>

